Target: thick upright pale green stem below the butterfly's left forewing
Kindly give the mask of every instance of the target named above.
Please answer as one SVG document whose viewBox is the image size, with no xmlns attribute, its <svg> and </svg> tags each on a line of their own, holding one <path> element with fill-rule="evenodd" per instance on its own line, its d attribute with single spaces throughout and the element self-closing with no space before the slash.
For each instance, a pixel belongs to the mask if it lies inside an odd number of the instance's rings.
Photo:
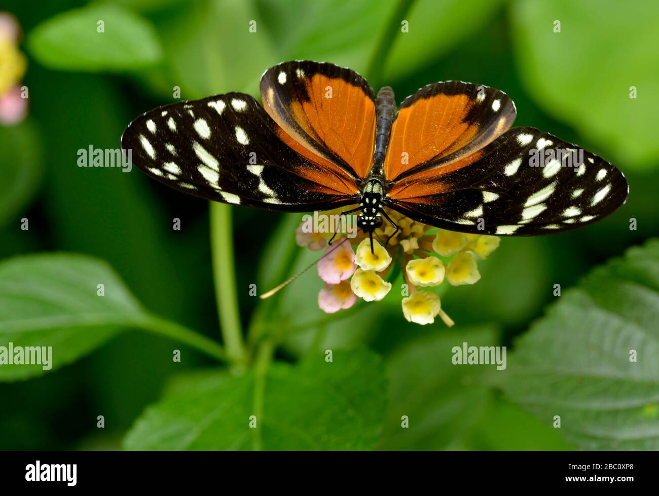
<svg viewBox="0 0 659 496">
<path fill-rule="evenodd" d="M 243 366 L 246 356 L 236 293 L 231 207 L 228 205 L 210 202 L 210 244 L 217 316 L 227 358 L 234 365 Z"/>
</svg>

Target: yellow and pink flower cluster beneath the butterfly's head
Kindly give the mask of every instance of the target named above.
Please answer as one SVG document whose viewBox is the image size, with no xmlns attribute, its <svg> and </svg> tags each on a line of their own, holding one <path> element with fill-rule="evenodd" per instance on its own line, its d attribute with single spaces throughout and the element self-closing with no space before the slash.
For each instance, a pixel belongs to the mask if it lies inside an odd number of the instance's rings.
<svg viewBox="0 0 659 496">
<path fill-rule="evenodd" d="M 350 308 L 358 298 L 380 301 L 391 291 L 395 276 L 387 276 L 398 265 L 405 281 L 401 287 L 405 319 L 428 324 L 439 316 L 450 327 L 453 321 L 442 310 L 438 294 L 430 288 L 440 286 L 444 280 L 453 286 L 476 283 L 480 279 L 476 261 L 488 258 L 500 239 L 432 228 L 385 210 L 400 230 L 393 236 L 393 226 L 382 225 L 374 233 L 372 251 L 370 238 L 362 232 L 353 238 L 342 236 L 329 245 L 333 232 L 306 233 L 302 225 L 296 230 L 299 246 L 325 248 L 325 256 L 318 262 L 318 275 L 325 283 L 318 294 L 318 305 L 331 314 Z M 338 212 L 329 211 L 326 215 Z"/>
</svg>

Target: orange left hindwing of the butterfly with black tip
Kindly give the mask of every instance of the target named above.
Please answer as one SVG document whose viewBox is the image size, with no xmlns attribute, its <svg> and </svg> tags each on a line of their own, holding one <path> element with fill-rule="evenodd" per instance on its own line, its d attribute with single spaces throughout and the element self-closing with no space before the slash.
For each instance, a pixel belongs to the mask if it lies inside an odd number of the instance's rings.
<svg viewBox="0 0 659 496">
<path fill-rule="evenodd" d="M 260 87 L 281 140 L 328 168 L 368 177 L 376 106 L 362 76 L 329 63 L 293 61 L 266 70 Z"/>
</svg>

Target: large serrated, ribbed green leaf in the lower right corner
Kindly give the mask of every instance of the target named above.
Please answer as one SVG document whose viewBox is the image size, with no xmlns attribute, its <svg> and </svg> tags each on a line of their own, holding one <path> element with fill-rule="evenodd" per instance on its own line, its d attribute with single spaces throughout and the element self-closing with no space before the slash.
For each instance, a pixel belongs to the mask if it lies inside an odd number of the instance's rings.
<svg viewBox="0 0 659 496">
<path fill-rule="evenodd" d="M 581 449 L 659 449 L 659 240 L 563 292 L 509 357 L 503 389 Z"/>
</svg>

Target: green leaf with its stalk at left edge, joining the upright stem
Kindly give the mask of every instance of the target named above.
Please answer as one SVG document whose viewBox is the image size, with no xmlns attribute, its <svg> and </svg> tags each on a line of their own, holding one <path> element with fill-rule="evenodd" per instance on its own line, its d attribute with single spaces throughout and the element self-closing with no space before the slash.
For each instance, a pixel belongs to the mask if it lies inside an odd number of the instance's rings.
<svg viewBox="0 0 659 496">
<path fill-rule="evenodd" d="M 103 285 L 103 296 L 99 285 Z M 105 262 L 82 255 L 49 254 L 0 263 L 0 356 L 4 354 L 7 360 L 0 364 L 0 381 L 56 370 L 129 327 L 178 339 L 223 358 L 217 343 L 144 310 Z M 51 360 L 47 364 L 10 364 L 10 346 L 14 350 L 52 347 Z"/>
</svg>

